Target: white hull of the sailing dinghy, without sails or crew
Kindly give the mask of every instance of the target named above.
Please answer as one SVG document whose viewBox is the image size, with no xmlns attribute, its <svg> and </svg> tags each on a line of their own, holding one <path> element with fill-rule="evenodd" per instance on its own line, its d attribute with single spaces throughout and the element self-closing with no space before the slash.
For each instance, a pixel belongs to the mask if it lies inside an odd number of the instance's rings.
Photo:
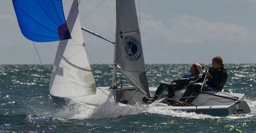
<svg viewBox="0 0 256 133">
<path fill-rule="evenodd" d="M 155 94 L 156 88 L 149 88 L 151 94 Z M 175 91 L 175 97 L 177 101 L 179 101 L 180 97 L 183 95 L 185 90 L 180 89 Z M 221 98 L 218 96 L 213 96 L 209 94 L 199 94 L 199 96 L 192 102 L 193 105 L 196 106 L 185 106 L 185 107 L 175 107 L 169 106 L 164 103 L 165 100 L 160 99 L 151 104 L 146 104 L 151 106 L 152 108 L 168 108 L 172 110 L 181 110 L 187 112 L 196 112 L 199 114 L 208 114 L 208 115 L 228 115 L 234 113 L 250 113 L 250 108 L 247 105 L 246 101 L 244 101 L 244 94 L 239 93 L 220 93 L 214 91 L 207 91 L 211 94 L 216 94 L 220 96 L 225 96 L 229 98 L 238 97 L 237 101 L 230 100 L 227 98 Z M 136 102 L 133 98 L 136 98 L 140 103 L 144 103 L 142 101 L 143 95 L 135 90 L 132 87 L 124 87 L 123 90 L 114 90 L 109 89 L 109 87 L 98 87 L 96 94 L 86 95 L 86 96 L 77 96 L 77 97 L 65 97 L 71 100 L 84 102 L 86 104 L 91 105 L 100 105 L 106 102 L 113 102 L 114 95 L 116 94 L 116 99 L 118 101 L 135 105 Z M 168 94 L 167 91 L 164 94 Z M 228 95 L 227 95 L 228 94 Z"/>
</svg>

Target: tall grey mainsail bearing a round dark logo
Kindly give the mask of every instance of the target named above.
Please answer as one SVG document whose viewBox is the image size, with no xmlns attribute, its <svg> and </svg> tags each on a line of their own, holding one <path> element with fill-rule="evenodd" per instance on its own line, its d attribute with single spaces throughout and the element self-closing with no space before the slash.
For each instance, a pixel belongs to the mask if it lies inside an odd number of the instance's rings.
<svg viewBox="0 0 256 133">
<path fill-rule="evenodd" d="M 149 99 L 134 0 L 116 0 L 116 56 L 118 71 Z"/>
</svg>

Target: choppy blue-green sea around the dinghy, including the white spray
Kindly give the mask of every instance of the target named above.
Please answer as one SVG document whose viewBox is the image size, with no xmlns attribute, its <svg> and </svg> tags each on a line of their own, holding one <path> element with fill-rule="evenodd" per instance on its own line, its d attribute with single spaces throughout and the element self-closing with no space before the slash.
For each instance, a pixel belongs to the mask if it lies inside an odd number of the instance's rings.
<svg viewBox="0 0 256 133">
<path fill-rule="evenodd" d="M 203 64 L 206 68 L 210 64 Z M 191 64 L 146 65 L 149 87 L 188 73 Z M 71 101 L 56 111 L 48 90 L 52 65 L 0 65 L 0 132 L 256 132 L 256 64 L 225 64 L 224 92 L 244 93 L 249 114 L 211 116 L 165 108 Z M 111 86 L 112 65 L 92 65 L 97 86 Z M 45 77 L 45 76 L 46 77 Z M 120 74 L 117 80 L 130 85 Z"/>
</svg>

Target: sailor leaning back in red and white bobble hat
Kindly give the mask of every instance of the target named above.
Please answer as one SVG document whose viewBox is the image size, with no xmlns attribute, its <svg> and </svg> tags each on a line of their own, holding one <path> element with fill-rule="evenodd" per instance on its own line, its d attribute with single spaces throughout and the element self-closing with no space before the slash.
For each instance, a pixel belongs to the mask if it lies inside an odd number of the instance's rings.
<svg viewBox="0 0 256 133">
<path fill-rule="evenodd" d="M 190 81 L 198 80 L 198 74 L 201 73 L 202 69 L 204 69 L 204 66 L 197 63 L 193 64 L 189 70 L 191 74 L 185 74 L 180 79 L 172 81 L 172 83 L 161 83 L 156 89 L 154 99 L 156 100 L 166 88 L 168 88 L 168 98 L 172 98 L 174 96 L 174 90 L 185 88 Z"/>
</svg>

